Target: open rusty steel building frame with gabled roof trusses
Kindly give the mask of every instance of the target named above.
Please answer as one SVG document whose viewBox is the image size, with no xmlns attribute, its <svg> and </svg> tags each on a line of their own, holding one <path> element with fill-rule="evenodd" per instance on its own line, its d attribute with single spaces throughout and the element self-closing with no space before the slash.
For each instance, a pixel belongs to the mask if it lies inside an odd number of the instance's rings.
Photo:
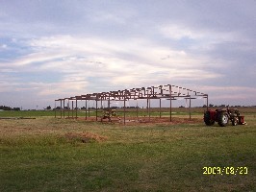
<svg viewBox="0 0 256 192">
<path fill-rule="evenodd" d="M 126 102 L 129 100 L 146 100 L 147 104 L 147 113 L 150 121 L 150 100 L 159 100 L 160 107 L 160 118 L 161 118 L 161 101 L 162 99 L 169 100 L 169 121 L 171 121 L 171 108 L 172 101 L 177 100 L 178 98 L 183 98 L 189 100 L 189 111 L 190 111 L 190 119 L 191 119 L 191 104 L 192 99 L 206 99 L 206 107 L 208 109 L 208 94 L 197 92 L 188 88 L 184 88 L 177 85 L 166 84 L 159 86 L 149 86 L 149 87 L 141 87 L 141 88 L 131 88 L 117 91 L 109 91 L 109 92 L 100 92 L 100 93 L 91 93 L 86 95 L 74 96 L 64 99 L 55 100 L 55 117 L 56 117 L 56 102 L 61 102 L 61 118 L 65 116 L 65 104 L 68 108 L 68 117 L 69 112 L 71 110 L 72 117 L 77 118 L 77 103 L 78 101 L 86 101 L 86 119 L 88 118 L 88 101 L 96 102 L 96 121 L 98 120 L 98 102 L 107 101 L 108 108 L 111 108 L 111 101 L 122 101 L 123 102 L 123 122 L 125 124 L 126 121 Z M 65 103 L 67 101 L 67 103 Z M 72 102 L 72 107 L 70 109 L 69 102 Z M 74 108 L 75 101 L 75 108 Z M 74 117 L 75 111 L 75 117 Z"/>
</svg>

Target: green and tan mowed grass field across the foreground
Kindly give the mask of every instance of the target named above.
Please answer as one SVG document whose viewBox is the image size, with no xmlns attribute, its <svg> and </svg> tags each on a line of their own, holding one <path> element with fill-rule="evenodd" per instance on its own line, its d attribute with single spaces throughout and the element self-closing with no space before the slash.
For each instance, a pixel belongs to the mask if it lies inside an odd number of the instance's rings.
<svg viewBox="0 0 256 192">
<path fill-rule="evenodd" d="M 0 191 L 254 191 L 255 115 L 245 121 L 209 128 L 203 122 L 123 126 L 2 119 Z M 105 139 L 66 136 L 85 132 Z M 228 166 L 248 172 L 203 175 L 203 167 Z"/>
</svg>

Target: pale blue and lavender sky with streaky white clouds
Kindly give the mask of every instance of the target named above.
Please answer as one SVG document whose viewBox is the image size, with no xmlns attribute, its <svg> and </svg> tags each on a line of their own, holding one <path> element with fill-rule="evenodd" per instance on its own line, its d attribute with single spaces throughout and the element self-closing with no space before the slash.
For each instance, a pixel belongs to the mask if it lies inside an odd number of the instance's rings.
<svg viewBox="0 0 256 192">
<path fill-rule="evenodd" d="M 0 0 L 0 106 L 160 84 L 256 106 L 255 10 L 255 0 Z"/>
</svg>

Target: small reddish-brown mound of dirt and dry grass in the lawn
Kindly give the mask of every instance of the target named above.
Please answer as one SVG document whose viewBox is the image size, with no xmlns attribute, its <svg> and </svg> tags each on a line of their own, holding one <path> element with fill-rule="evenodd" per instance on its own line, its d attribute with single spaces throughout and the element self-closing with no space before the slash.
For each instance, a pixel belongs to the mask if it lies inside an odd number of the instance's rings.
<svg viewBox="0 0 256 192">
<path fill-rule="evenodd" d="M 95 134 L 95 133 L 91 133 L 91 132 L 68 132 L 65 134 L 65 137 L 68 140 L 77 140 L 77 141 L 81 141 L 83 143 L 90 143 L 90 142 L 101 142 L 104 140 L 107 140 L 106 136 L 102 136 L 99 134 Z"/>
</svg>

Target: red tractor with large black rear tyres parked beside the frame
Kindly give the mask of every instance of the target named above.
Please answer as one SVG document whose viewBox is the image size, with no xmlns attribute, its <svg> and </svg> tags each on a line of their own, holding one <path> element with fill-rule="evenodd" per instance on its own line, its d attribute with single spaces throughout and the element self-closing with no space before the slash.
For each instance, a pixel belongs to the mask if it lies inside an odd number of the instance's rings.
<svg viewBox="0 0 256 192">
<path fill-rule="evenodd" d="M 238 109 L 210 109 L 204 113 L 204 123 L 207 126 L 213 126 L 215 122 L 218 122 L 219 126 L 225 127 L 229 121 L 233 126 L 245 124 L 244 116 L 240 115 Z"/>
</svg>

